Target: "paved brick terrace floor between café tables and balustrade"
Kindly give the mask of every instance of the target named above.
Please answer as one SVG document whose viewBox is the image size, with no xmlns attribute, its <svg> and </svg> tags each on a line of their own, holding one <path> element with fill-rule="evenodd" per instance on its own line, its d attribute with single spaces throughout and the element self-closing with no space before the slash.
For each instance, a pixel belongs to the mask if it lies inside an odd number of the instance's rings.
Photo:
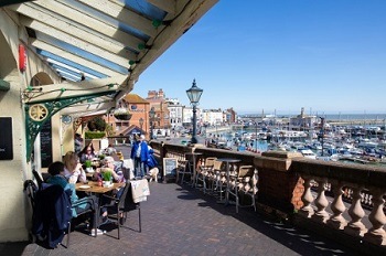
<svg viewBox="0 0 386 256">
<path fill-rule="evenodd" d="M 75 231 L 69 248 L 6 243 L 0 244 L 0 255 L 355 255 L 334 241 L 277 223 L 253 209 L 236 214 L 234 205 L 217 204 L 189 185 L 152 182 L 150 190 L 141 203 L 141 233 L 132 211 L 126 223 L 130 228 L 121 228 L 119 241 Z"/>
</svg>

